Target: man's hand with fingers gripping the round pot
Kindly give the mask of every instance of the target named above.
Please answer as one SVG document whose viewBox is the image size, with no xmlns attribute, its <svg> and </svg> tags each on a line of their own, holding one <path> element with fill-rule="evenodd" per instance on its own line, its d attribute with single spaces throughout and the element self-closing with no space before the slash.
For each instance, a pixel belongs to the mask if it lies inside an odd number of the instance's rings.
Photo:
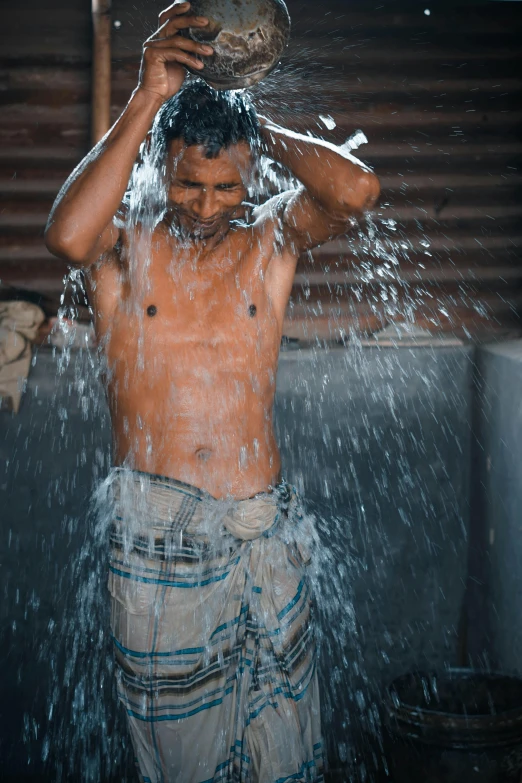
<svg viewBox="0 0 522 783">
<path fill-rule="evenodd" d="M 204 16 L 187 15 L 190 3 L 174 3 L 159 15 L 159 29 L 143 44 L 138 88 L 161 102 L 175 95 L 185 80 L 184 66 L 199 71 L 203 63 L 195 55 L 211 55 L 211 46 L 179 34 L 187 27 L 205 27 Z"/>
</svg>

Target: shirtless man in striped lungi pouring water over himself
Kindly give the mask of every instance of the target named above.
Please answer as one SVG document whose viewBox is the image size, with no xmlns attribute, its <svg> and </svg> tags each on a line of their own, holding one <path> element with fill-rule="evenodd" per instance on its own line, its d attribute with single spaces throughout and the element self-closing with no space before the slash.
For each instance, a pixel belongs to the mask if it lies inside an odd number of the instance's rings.
<svg viewBox="0 0 522 783">
<path fill-rule="evenodd" d="M 299 255 L 343 233 L 379 184 L 244 98 L 183 86 L 212 48 L 180 31 L 206 24 L 188 3 L 160 14 L 138 87 L 46 238 L 85 270 L 105 354 L 111 622 L 141 779 L 320 781 L 310 533 L 280 483 L 272 405 Z M 166 199 L 151 228 L 122 202 L 155 117 Z M 301 185 L 250 213 L 259 151 Z"/>
</svg>

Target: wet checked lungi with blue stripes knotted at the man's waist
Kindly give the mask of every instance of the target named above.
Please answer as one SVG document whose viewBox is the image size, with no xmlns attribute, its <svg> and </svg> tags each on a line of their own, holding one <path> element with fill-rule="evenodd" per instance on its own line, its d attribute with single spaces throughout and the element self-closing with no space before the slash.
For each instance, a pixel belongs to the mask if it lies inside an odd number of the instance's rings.
<svg viewBox="0 0 522 783">
<path fill-rule="evenodd" d="M 143 781 L 323 781 L 309 522 L 117 469 L 111 625 Z"/>
</svg>

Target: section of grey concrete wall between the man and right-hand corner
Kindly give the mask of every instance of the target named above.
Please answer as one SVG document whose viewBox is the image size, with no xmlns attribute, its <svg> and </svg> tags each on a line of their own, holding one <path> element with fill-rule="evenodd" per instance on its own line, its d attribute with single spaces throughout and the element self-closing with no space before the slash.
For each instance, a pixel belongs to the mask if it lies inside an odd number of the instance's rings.
<svg viewBox="0 0 522 783">
<path fill-rule="evenodd" d="M 383 687 L 460 662 L 472 371 L 464 347 L 306 350 L 281 362 L 283 464 L 326 548 L 326 733 L 341 760 L 343 742 L 348 758 L 366 758 L 366 773 Z"/>
</svg>

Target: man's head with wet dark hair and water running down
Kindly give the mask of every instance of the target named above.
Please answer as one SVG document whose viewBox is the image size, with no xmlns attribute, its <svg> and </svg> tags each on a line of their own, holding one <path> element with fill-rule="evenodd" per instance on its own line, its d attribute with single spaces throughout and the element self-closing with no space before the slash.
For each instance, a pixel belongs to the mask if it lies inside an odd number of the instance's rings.
<svg viewBox="0 0 522 783">
<path fill-rule="evenodd" d="M 167 154 L 169 207 L 183 233 L 209 239 L 228 229 L 246 195 L 258 128 L 242 95 L 201 81 L 164 104 L 155 134 Z"/>
</svg>

